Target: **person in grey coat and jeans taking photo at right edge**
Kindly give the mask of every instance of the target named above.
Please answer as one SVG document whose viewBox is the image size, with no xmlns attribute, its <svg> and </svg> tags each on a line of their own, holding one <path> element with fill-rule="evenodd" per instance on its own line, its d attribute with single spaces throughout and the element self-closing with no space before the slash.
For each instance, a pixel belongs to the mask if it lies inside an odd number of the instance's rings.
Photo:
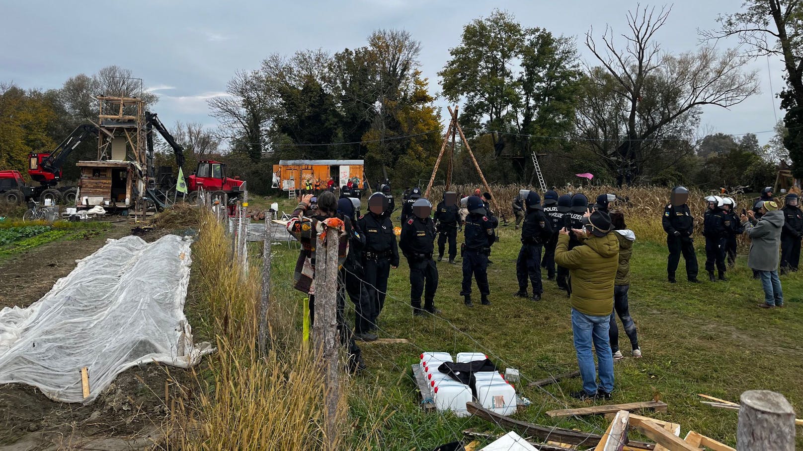
<svg viewBox="0 0 803 451">
<path fill-rule="evenodd" d="M 748 216 L 741 215 L 741 220 L 751 240 L 748 266 L 759 274 L 761 285 L 764 286 L 764 303 L 758 307 L 784 307 L 784 293 L 781 291 L 781 279 L 778 278 L 778 250 L 781 248 L 784 213 L 778 210 L 778 204 L 774 201 L 762 202 L 760 220 L 756 219 L 752 210 L 747 213 Z"/>
</svg>

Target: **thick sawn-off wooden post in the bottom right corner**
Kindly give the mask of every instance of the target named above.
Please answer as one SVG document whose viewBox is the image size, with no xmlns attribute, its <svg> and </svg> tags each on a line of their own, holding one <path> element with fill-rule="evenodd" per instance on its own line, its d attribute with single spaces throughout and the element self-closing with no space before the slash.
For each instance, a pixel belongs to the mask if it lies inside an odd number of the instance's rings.
<svg viewBox="0 0 803 451">
<path fill-rule="evenodd" d="M 795 411 L 783 395 L 768 390 L 750 390 L 742 393 L 740 401 L 736 449 L 795 449 Z"/>
</svg>

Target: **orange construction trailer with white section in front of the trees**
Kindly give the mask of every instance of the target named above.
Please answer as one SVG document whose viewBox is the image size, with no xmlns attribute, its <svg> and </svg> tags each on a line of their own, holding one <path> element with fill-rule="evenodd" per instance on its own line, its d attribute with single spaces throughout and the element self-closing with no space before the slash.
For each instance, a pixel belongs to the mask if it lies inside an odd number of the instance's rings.
<svg viewBox="0 0 803 451">
<path fill-rule="evenodd" d="M 357 188 L 365 189 L 364 160 L 279 160 L 273 165 L 273 188 L 283 191 L 293 189 L 325 189 L 329 177 L 336 188 L 347 185 L 349 180 Z"/>
</svg>

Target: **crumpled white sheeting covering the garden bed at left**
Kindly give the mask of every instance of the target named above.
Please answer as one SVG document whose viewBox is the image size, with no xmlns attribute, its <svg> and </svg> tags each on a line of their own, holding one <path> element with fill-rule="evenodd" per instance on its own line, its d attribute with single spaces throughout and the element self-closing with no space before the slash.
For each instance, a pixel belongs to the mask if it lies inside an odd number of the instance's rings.
<svg viewBox="0 0 803 451">
<path fill-rule="evenodd" d="M 30 307 L 2 309 L 0 383 L 31 384 L 52 400 L 88 404 L 134 365 L 197 364 L 212 349 L 193 346 L 184 315 L 191 242 L 176 235 L 153 243 L 108 240 Z"/>
</svg>

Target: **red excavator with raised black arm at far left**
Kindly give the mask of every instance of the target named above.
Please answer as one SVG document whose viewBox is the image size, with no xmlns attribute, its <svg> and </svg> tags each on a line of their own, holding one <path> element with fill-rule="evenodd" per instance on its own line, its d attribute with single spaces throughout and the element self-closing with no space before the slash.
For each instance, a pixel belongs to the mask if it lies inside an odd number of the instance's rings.
<svg viewBox="0 0 803 451">
<path fill-rule="evenodd" d="M 28 155 L 28 175 L 39 185 L 26 185 L 19 171 L 0 171 L 0 201 L 18 205 L 23 201 L 50 200 L 53 205 L 62 202 L 75 205 L 75 186 L 57 186 L 61 181 L 61 169 L 67 156 L 88 136 L 97 136 L 92 124 L 79 125 L 53 152 L 37 152 Z"/>
</svg>

